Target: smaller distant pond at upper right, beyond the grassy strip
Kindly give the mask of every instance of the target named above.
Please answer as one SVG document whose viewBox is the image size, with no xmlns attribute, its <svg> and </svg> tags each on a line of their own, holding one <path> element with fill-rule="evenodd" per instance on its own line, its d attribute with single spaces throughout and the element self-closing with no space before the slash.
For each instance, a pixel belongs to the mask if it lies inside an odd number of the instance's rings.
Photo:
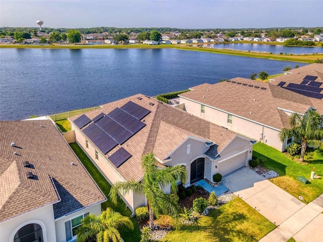
<svg viewBox="0 0 323 242">
<path fill-rule="evenodd" d="M 245 44 L 245 43 L 229 43 L 229 44 L 203 44 L 199 45 L 207 48 L 216 49 L 234 49 L 234 50 L 250 50 L 254 52 L 272 52 L 274 54 L 279 53 L 323 53 L 322 47 L 303 47 L 303 46 L 284 46 L 273 44 Z"/>
</svg>

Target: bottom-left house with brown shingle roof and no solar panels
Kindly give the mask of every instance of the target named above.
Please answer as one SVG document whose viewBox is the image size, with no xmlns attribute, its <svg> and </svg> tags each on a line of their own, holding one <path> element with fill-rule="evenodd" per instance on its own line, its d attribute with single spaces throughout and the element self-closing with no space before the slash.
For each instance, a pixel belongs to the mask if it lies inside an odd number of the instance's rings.
<svg viewBox="0 0 323 242">
<path fill-rule="evenodd" d="M 75 241 L 104 201 L 50 120 L 0 122 L 0 241 Z"/>
</svg>

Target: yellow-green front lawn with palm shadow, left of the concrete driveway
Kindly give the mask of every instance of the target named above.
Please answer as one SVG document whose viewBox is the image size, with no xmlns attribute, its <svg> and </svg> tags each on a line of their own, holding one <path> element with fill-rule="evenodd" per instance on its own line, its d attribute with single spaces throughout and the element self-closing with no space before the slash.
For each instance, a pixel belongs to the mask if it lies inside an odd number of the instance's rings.
<svg viewBox="0 0 323 242">
<path fill-rule="evenodd" d="M 171 231 L 164 241 L 174 242 L 234 242 L 258 241 L 276 228 L 260 213 L 242 199 L 210 211 L 199 218 L 198 225 L 183 226 L 180 231 Z"/>
</svg>

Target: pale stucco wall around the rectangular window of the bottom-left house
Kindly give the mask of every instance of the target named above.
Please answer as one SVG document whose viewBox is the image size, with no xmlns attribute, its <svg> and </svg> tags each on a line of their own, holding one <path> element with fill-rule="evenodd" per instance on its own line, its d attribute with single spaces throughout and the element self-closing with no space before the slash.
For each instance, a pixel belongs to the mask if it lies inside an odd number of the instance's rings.
<svg viewBox="0 0 323 242">
<path fill-rule="evenodd" d="M 85 213 L 91 213 L 94 215 L 100 215 L 101 214 L 101 204 L 95 204 L 93 206 L 87 207 L 85 209 L 82 209 L 80 211 L 77 211 L 75 213 L 72 213 L 70 215 L 61 217 L 56 219 L 55 226 L 56 226 L 56 241 L 57 242 L 66 242 L 66 233 L 65 233 L 65 222 L 79 217 L 80 215 L 84 215 Z M 74 237 L 76 238 L 76 236 Z M 69 240 L 73 241 L 73 240 Z"/>
</svg>

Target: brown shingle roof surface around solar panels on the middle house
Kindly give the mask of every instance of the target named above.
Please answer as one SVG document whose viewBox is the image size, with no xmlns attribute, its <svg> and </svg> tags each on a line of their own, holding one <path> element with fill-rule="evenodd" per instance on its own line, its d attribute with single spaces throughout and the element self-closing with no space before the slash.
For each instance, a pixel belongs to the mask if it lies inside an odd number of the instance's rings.
<svg viewBox="0 0 323 242">
<path fill-rule="evenodd" d="M 138 100 L 137 97 L 142 99 Z M 190 115 L 185 111 L 142 94 L 104 104 L 102 105 L 103 108 L 87 112 L 86 116 L 92 119 L 101 112 L 109 113 L 128 101 L 132 101 L 150 110 L 150 113 L 141 119 L 146 124 L 144 128 L 125 143 L 118 145 L 105 155 L 105 158 L 109 161 L 109 155 L 113 154 L 120 147 L 124 147 L 132 155 L 131 158 L 118 168 L 111 163 L 126 180 L 132 178 L 140 180 L 143 177 L 141 168 L 141 157 L 143 154 L 153 152 L 160 160 L 163 160 L 190 135 L 198 138 L 202 137 L 205 140 L 218 144 L 219 151 L 236 136 L 235 133 L 211 124 L 202 118 Z M 154 105 L 149 105 L 149 102 Z M 78 116 L 71 117 L 70 120 L 73 122 Z M 163 142 L 166 144 L 165 146 L 161 145 Z M 97 150 L 101 152 L 99 149 Z"/>
</svg>

